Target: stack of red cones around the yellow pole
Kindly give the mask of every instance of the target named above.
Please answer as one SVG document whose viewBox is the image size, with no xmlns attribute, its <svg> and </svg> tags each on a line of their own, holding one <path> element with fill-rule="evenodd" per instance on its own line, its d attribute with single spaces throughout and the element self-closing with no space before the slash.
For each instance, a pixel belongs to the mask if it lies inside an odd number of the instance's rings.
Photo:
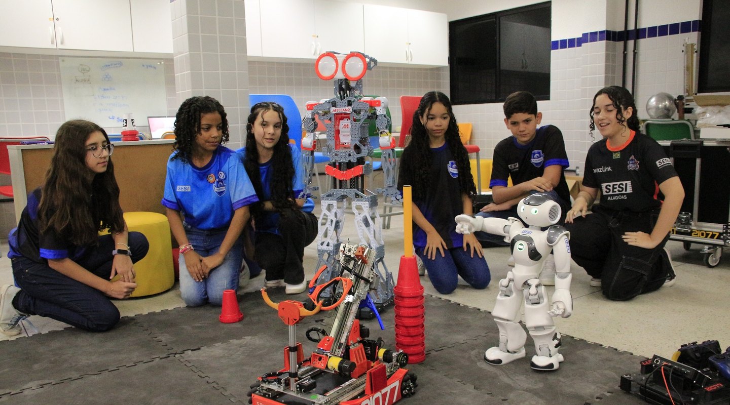
<svg viewBox="0 0 730 405">
<path fill-rule="evenodd" d="M 426 326 L 423 316 L 423 286 L 415 256 L 401 256 L 398 283 L 393 288 L 396 312 L 396 349 L 408 355 L 408 363 L 426 360 Z"/>
</svg>

